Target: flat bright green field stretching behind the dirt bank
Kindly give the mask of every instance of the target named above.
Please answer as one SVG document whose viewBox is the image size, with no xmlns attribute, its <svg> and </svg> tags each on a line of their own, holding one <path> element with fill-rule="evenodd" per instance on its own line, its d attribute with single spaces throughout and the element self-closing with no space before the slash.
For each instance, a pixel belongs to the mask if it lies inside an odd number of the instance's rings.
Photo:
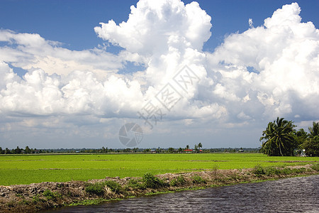
<svg viewBox="0 0 319 213">
<path fill-rule="evenodd" d="M 319 158 L 268 157 L 258 153 L 0 155 L 0 185 L 309 163 L 284 161 L 319 161 Z"/>
</svg>

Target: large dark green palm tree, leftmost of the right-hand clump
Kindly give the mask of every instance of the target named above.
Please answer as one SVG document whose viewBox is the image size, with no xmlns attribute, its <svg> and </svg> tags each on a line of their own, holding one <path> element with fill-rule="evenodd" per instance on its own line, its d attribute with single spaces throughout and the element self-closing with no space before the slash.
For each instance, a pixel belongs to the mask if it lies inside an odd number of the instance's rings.
<svg viewBox="0 0 319 213">
<path fill-rule="evenodd" d="M 262 151 L 267 155 L 293 154 L 293 121 L 279 119 L 269 122 L 267 129 L 262 132 L 259 141 L 262 142 Z"/>
</svg>

